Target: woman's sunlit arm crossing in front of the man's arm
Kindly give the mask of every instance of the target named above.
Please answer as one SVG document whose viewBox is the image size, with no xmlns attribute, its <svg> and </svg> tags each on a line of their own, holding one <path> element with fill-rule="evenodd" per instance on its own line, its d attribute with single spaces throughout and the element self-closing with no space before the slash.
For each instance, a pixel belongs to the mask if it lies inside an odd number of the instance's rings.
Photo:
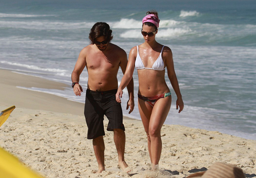
<svg viewBox="0 0 256 178">
<path fill-rule="evenodd" d="M 134 67 L 135 67 L 136 55 L 137 55 L 137 48 L 133 47 L 129 53 L 128 64 L 127 64 L 124 76 L 121 80 L 120 86 L 118 87 L 118 90 L 116 93 L 116 101 L 118 103 L 121 103 L 120 98 L 122 98 L 123 90 L 132 79 L 132 75 L 133 75 L 133 71 L 134 71 Z"/>
</svg>

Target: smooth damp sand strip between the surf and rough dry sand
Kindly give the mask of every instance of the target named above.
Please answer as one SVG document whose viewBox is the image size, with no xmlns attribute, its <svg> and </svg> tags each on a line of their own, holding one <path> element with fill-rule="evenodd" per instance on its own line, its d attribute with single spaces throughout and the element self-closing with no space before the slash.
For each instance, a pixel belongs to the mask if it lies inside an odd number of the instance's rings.
<svg viewBox="0 0 256 178">
<path fill-rule="evenodd" d="M 67 84 L 5 69 L 0 69 L 0 76 L 0 107 L 2 110 L 15 105 L 16 108 L 84 115 L 84 103 L 70 101 L 67 98 L 49 93 L 20 88 L 36 87 L 64 90 L 65 87 L 71 87 Z M 136 120 L 127 116 L 124 116 L 124 119 Z"/>
</svg>

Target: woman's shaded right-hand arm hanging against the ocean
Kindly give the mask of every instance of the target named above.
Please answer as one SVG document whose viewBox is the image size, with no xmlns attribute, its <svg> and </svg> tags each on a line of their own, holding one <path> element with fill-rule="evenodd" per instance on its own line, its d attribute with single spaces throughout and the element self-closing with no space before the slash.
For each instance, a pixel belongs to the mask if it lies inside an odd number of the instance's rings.
<svg viewBox="0 0 256 178">
<path fill-rule="evenodd" d="M 184 103 L 182 100 L 178 79 L 177 79 L 177 76 L 176 76 L 176 73 L 174 70 L 172 50 L 168 47 L 165 47 L 165 49 L 163 51 L 163 57 L 166 59 L 165 63 L 166 63 L 167 74 L 168 74 L 169 80 L 172 84 L 173 90 L 175 91 L 175 93 L 177 95 L 176 109 L 178 109 L 178 107 L 180 107 L 180 110 L 179 110 L 179 113 L 180 113 L 184 108 Z"/>
</svg>

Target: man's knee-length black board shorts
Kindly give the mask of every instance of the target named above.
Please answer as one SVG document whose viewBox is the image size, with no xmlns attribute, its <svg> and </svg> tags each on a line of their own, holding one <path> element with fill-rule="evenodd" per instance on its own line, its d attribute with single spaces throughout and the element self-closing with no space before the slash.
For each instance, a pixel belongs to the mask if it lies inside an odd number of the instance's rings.
<svg viewBox="0 0 256 178">
<path fill-rule="evenodd" d="M 123 129 L 123 111 L 121 103 L 116 101 L 117 89 L 109 91 L 86 90 L 84 116 L 88 127 L 87 139 L 105 135 L 104 115 L 109 120 L 107 130 Z"/>
</svg>

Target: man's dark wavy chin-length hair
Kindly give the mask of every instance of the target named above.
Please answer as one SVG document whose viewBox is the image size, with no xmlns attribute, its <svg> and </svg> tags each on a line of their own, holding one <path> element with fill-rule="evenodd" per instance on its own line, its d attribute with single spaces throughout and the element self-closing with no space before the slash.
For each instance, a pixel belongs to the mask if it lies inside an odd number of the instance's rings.
<svg viewBox="0 0 256 178">
<path fill-rule="evenodd" d="M 105 22 L 97 22 L 90 30 L 89 39 L 91 44 L 94 44 L 96 38 L 105 37 L 105 41 L 110 42 L 113 39 L 112 30 L 110 30 L 109 24 Z"/>
</svg>

